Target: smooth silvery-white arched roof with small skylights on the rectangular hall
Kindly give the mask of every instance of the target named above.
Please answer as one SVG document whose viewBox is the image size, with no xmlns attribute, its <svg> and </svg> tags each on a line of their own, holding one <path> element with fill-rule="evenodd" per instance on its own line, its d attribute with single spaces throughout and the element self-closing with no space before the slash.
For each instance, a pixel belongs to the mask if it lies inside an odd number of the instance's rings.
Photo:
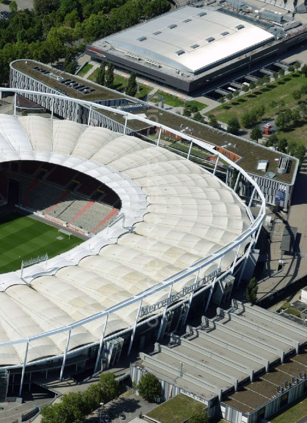
<svg viewBox="0 0 307 423">
<path fill-rule="evenodd" d="M 211 38 L 214 40 L 208 41 Z M 173 69 L 197 73 L 272 39 L 272 34 L 236 17 L 186 6 L 91 45 L 105 51 L 112 46 Z"/>
</svg>

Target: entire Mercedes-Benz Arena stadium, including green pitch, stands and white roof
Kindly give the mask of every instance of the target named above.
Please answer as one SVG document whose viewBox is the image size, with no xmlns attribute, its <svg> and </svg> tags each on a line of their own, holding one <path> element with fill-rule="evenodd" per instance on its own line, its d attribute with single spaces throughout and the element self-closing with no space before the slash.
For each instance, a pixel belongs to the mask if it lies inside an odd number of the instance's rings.
<svg viewBox="0 0 307 423">
<path fill-rule="evenodd" d="M 90 118 L 0 115 L 0 366 L 11 394 L 42 374 L 108 368 L 182 327 L 196 307 L 229 299 L 264 219 L 256 182 L 210 144 L 187 136 L 249 181 L 249 202 L 217 166 L 210 173 L 160 147 L 171 128 L 157 123 L 149 143 Z"/>
</svg>

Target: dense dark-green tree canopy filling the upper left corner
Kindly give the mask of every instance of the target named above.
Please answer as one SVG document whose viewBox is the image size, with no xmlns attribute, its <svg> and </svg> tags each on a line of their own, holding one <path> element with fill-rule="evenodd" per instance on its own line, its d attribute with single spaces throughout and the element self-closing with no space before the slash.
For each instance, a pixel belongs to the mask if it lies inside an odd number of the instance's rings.
<svg viewBox="0 0 307 423">
<path fill-rule="evenodd" d="M 55 63 L 88 43 L 167 12 L 167 0 L 33 0 L 33 10 L 11 1 L 8 20 L 0 21 L 0 82 L 8 82 L 9 63 L 33 59 Z M 76 46 L 79 41 L 79 46 Z M 71 65 L 73 66 L 73 65 Z M 70 69 L 71 70 L 71 69 Z M 73 73 L 73 72 L 72 72 Z"/>
</svg>

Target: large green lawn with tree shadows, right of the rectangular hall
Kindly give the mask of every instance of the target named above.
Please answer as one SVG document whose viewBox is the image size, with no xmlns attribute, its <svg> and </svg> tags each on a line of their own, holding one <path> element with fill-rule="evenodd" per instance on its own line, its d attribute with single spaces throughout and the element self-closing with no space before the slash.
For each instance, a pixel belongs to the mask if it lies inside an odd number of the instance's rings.
<svg viewBox="0 0 307 423">
<path fill-rule="evenodd" d="M 293 90 L 299 90 L 302 85 L 307 84 L 307 78 L 302 77 L 300 73 L 289 74 L 283 78 L 270 82 L 262 88 L 255 88 L 253 92 L 248 92 L 245 95 L 239 96 L 231 102 L 227 102 L 222 106 L 218 106 L 210 110 L 207 114 L 214 114 L 218 121 L 228 123 L 229 119 L 237 116 L 239 119 L 246 110 L 250 110 L 255 106 L 264 105 L 265 114 L 262 120 L 272 118 L 280 111 L 280 107 L 272 108 L 271 102 L 274 100 L 278 103 L 284 100 L 285 106 L 282 110 L 290 109 L 297 103 L 292 97 Z"/>
</svg>

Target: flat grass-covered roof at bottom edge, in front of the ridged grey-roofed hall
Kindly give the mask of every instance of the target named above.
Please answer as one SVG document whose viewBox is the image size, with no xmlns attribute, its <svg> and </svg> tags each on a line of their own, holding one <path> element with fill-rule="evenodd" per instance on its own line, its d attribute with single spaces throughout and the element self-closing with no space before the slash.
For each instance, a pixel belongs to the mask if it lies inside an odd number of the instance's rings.
<svg viewBox="0 0 307 423">
<path fill-rule="evenodd" d="M 184 394 L 178 394 L 154 408 L 147 413 L 147 416 L 161 423 L 180 423 L 182 420 L 190 417 L 193 408 L 198 404 L 201 403 Z"/>
</svg>

